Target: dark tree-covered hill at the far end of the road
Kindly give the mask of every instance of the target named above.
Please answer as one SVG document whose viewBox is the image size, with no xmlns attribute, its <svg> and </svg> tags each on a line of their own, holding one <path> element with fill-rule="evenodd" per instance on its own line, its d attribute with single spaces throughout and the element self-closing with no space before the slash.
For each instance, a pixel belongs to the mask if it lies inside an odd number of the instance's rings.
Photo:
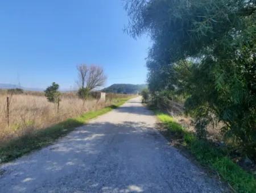
<svg viewBox="0 0 256 193">
<path fill-rule="evenodd" d="M 114 84 L 105 89 L 102 89 L 106 93 L 118 93 L 118 94 L 137 94 L 145 89 L 147 85 L 132 85 L 132 84 Z"/>
</svg>

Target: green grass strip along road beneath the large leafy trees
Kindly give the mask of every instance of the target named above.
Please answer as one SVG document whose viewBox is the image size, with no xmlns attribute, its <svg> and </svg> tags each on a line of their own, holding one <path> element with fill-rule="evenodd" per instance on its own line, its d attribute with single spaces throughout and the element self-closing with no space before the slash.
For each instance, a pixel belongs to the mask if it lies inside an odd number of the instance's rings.
<svg viewBox="0 0 256 193">
<path fill-rule="evenodd" d="M 174 135 L 180 136 L 183 145 L 204 166 L 216 171 L 237 192 L 256 192 L 256 179 L 247 173 L 227 156 L 224 150 L 212 145 L 209 141 L 199 140 L 175 121 L 174 118 L 162 112 L 155 111 L 158 119 Z"/>
</svg>

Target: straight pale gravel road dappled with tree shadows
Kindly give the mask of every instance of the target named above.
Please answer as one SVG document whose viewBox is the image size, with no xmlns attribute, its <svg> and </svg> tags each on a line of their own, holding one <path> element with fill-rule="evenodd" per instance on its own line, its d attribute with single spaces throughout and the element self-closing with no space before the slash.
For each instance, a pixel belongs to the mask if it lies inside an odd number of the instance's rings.
<svg viewBox="0 0 256 193">
<path fill-rule="evenodd" d="M 154 128 L 141 98 L 0 167 L 0 192 L 222 192 Z"/>
</svg>

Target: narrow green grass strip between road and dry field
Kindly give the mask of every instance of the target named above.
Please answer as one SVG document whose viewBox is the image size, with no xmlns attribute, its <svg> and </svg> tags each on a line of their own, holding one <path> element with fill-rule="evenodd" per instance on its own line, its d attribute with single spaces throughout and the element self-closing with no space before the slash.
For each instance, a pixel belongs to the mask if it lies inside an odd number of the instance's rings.
<svg viewBox="0 0 256 193">
<path fill-rule="evenodd" d="M 67 133 L 73 131 L 76 127 L 85 124 L 88 120 L 121 106 L 128 99 L 130 98 L 118 99 L 112 106 L 101 108 L 97 111 L 86 112 L 77 118 L 67 119 L 46 129 L 12 140 L 0 147 L 0 163 L 9 162 L 32 150 L 40 149 L 43 146 L 52 144 L 52 142 L 59 139 L 59 137 L 67 135 Z"/>
</svg>

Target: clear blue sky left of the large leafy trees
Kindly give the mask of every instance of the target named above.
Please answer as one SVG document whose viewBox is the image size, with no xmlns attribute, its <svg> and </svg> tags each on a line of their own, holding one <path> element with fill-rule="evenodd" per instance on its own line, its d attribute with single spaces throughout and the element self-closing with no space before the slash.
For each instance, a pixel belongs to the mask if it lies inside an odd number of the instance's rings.
<svg viewBox="0 0 256 193">
<path fill-rule="evenodd" d="M 0 1 L 0 83 L 69 89 L 76 65 L 97 64 L 113 83 L 145 83 L 148 37 L 123 32 L 122 0 Z"/>
</svg>

